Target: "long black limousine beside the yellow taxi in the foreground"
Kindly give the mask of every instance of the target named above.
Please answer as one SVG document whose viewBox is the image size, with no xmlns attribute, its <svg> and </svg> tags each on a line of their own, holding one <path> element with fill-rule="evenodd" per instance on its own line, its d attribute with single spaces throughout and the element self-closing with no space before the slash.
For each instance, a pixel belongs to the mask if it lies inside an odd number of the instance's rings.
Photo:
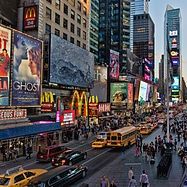
<svg viewBox="0 0 187 187">
<path fill-rule="evenodd" d="M 28 187 L 67 187 L 84 178 L 85 166 L 60 166 L 30 181 Z"/>
</svg>

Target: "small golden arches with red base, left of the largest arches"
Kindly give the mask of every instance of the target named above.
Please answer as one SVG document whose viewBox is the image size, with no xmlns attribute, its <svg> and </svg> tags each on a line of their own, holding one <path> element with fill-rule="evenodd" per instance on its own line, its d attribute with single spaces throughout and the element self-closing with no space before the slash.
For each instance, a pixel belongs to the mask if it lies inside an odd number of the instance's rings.
<svg viewBox="0 0 187 187">
<path fill-rule="evenodd" d="M 54 107 L 54 97 L 52 92 L 43 92 L 41 95 L 41 111 L 51 112 Z"/>
</svg>

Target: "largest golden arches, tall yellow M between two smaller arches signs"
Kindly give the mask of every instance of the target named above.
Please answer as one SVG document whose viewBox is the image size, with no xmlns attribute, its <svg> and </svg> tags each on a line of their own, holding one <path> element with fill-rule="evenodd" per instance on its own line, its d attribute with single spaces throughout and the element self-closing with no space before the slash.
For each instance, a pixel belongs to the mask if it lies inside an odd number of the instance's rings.
<svg viewBox="0 0 187 187">
<path fill-rule="evenodd" d="M 77 90 L 74 91 L 71 109 L 75 109 L 76 116 L 88 116 L 88 100 L 86 92 L 83 91 L 79 93 Z"/>
</svg>

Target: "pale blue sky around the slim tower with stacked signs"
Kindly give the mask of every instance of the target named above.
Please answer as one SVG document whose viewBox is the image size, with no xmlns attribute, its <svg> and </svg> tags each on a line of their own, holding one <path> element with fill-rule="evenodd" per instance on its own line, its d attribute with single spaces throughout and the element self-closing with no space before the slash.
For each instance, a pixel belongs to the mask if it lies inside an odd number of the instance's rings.
<svg viewBox="0 0 187 187">
<path fill-rule="evenodd" d="M 155 24 L 155 61 L 156 77 L 158 77 L 158 63 L 164 53 L 164 14 L 167 4 L 174 9 L 180 8 L 182 17 L 182 76 L 187 83 L 187 0 L 150 0 L 149 14 Z"/>
</svg>

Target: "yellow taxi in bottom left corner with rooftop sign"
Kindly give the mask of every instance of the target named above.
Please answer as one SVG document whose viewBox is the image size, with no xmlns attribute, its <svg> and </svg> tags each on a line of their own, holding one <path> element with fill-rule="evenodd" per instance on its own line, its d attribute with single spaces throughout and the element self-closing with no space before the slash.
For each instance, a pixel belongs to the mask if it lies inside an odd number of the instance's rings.
<svg viewBox="0 0 187 187">
<path fill-rule="evenodd" d="M 0 175 L 0 187 L 25 187 L 32 178 L 47 172 L 45 169 L 25 170 L 22 166 L 17 166 Z"/>
</svg>

